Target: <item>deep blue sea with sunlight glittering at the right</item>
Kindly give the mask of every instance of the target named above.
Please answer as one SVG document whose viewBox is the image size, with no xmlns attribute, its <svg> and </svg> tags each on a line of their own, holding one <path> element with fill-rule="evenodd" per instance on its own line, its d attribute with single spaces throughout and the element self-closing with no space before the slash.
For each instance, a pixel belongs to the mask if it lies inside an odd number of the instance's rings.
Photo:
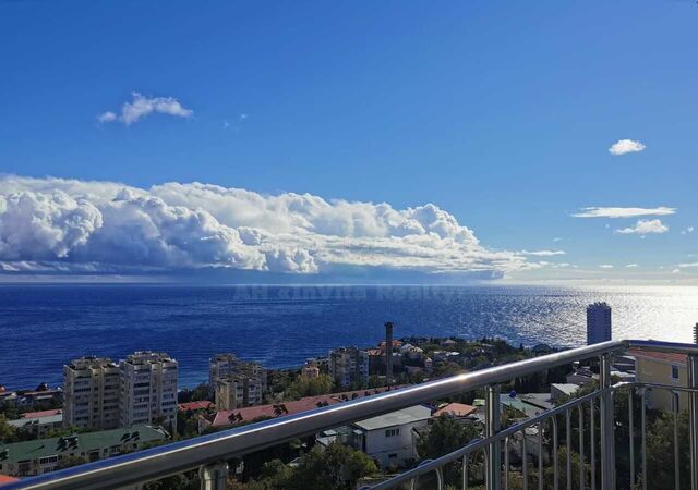
<svg viewBox="0 0 698 490">
<path fill-rule="evenodd" d="M 180 387 L 205 382 L 208 358 L 232 352 L 270 368 L 395 335 L 497 336 L 516 345 L 578 346 L 586 306 L 613 308 L 615 339 L 690 342 L 693 286 L 0 285 L 0 384 L 58 385 L 62 366 L 96 355 L 166 352 Z"/>
</svg>

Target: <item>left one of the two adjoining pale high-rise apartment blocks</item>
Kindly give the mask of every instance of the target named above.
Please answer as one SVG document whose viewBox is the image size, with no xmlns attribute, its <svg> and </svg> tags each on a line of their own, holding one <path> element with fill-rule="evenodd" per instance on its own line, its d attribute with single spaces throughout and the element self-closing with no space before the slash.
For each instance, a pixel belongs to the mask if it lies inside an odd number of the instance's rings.
<svg viewBox="0 0 698 490">
<path fill-rule="evenodd" d="M 81 357 L 63 366 L 63 427 L 119 427 L 119 368 L 108 357 Z"/>
</svg>

